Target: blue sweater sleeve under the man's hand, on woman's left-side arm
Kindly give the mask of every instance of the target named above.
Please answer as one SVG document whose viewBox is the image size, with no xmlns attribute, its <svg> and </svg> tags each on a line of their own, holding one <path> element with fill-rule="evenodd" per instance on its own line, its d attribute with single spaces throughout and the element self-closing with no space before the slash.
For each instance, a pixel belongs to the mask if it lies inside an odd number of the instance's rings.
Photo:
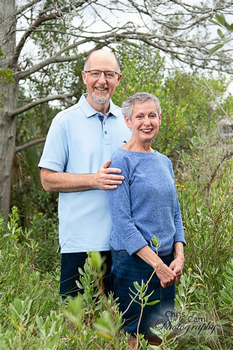
<svg viewBox="0 0 233 350">
<path fill-rule="evenodd" d="M 114 235 L 117 235 L 127 252 L 132 255 L 146 246 L 147 242 L 131 217 L 129 166 L 130 160 L 128 159 L 127 162 L 126 157 L 117 156 L 117 152 L 112 156 L 111 167 L 121 169 L 124 180 L 121 185 L 118 185 L 117 189 L 107 190 L 106 192 L 114 226 Z"/>
</svg>

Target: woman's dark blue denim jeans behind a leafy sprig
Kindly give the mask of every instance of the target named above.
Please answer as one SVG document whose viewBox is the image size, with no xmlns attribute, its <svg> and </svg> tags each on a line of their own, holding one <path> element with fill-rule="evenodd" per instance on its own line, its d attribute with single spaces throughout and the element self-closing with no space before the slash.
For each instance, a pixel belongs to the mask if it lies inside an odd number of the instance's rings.
<svg viewBox="0 0 233 350">
<path fill-rule="evenodd" d="M 166 265 L 170 265 L 174 260 L 174 254 L 160 256 L 162 261 Z M 136 254 L 129 255 L 126 250 L 112 250 L 112 273 L 111 278 L 114 284 L 114 289 L 116 296 L 119 298 L 120 311 L 124 312 L 132 298 L 129 294 L 134 296 L 134 294 L 129 290 L 133 290 L 137 293 L 136 288 L 134 287 L 134 282 L 137 281 L 141 285 L 142 280 L 144 283 L 149 280 L 154 269 L 144 262 Z M 175 298 L 175 284 L 170 287 L 163 288 L 160 284 L 160 280 L 156 274 L 153 275 L 152 279 L 148 284 L 146 295 L 151 294 L 147 302 L 154 300 L 160 300 L 159 303 L 155 305 L 145 306 L 143 309 L 142 318 L 140 321 L 139 333 L 143 333 L 146 336 L 151 336 L 150 327 L 154 328 L 156 322 L 161 319 L 161 323 L 164 323 L 165 319 L 168 319 L 174 311 L 174 298 Z M 136 298 L 136 301 L 140 302 L 139 298 Z M 123 324 L 123 330 L 130 334 L 137 333 L 138 322 L 141 314 L 141 305 L 133 302 L 123 315 L 125 319 Z"/>
</svg>

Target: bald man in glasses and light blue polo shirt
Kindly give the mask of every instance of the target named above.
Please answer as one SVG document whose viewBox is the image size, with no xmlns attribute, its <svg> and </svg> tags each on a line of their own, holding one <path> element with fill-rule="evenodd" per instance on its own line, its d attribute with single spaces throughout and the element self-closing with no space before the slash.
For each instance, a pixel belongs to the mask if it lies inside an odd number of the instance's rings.
<svg viewBox="0 0 233 350">
<path fill-rule="evenodd" d="M 46 191 L 59 191 L 60 294 L 75 296 L 78 268 L 87 251 L 106 257 L 105 292 L 111 290 L 109 237 L 112 231 L 106 193 L 123 180 L 120 169 L 109 168 L 112 153 L 130 139 L 121 109 L 111 100 L 122 74 L 115 55 L 92 52 L 82 71 L 87 85 L 78 104 L 53 119 L 39 162 Z"/>
</svg>

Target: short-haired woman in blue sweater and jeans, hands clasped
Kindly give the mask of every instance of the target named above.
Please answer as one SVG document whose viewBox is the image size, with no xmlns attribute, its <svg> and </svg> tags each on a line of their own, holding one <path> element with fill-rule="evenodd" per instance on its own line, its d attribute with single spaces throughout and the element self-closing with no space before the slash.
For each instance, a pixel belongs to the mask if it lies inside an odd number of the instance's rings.
<svg viewBox="0 0 233 350">
<path fill-rule="evenodd" d="M 160 302 L 144 308 L 139 327 L 149 337 L 158 319 L 172 315 L 174 283 L 182 274 L 186 243 L 172 162 L 151 148 L 161 125 L 159 100 L 152 94 L 136 93 L 123 103 L 122 113 L 132 137 L 111 158 L 111 167 L 121 169 L 124 176 L 116 190 L 107 191 L 114 226 L 112 279 L 120 310 L 126 311 L 123 329 L 135 335 L 141 305 L 133 302 L 128 308 L 132 301 L 129 287 L 136 291 L 133 282 L 141 285 L 155 269 L 146 295 L 154 291 L 148 302 Z M 150 245 L 154 236 L 161 245 L 158 255 Z"/>
</svg>

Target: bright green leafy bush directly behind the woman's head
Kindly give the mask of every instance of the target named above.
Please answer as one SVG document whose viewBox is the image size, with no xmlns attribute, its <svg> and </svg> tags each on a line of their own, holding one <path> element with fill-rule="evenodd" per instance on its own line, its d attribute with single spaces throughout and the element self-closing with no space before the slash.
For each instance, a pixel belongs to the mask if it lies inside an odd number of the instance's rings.
<svg viewBox="0 0 233 350">
<path fill-rule="evenodd" d="M 162 125 L 153 146 L 177 160 L 190 148 L 189 139 L 203 128 L 212 130 L 218 121 L 218 104 L 224 102 L 226 78 L 171 71 L 165 76 L 164 60 L 149 47 L 117 52 L 123 77 L 113 100 L 117 105 L 134 92 L 146 91 L 161 101 Z M 221 111 L 222 113 L 222 111 Z"/>
</svg>

